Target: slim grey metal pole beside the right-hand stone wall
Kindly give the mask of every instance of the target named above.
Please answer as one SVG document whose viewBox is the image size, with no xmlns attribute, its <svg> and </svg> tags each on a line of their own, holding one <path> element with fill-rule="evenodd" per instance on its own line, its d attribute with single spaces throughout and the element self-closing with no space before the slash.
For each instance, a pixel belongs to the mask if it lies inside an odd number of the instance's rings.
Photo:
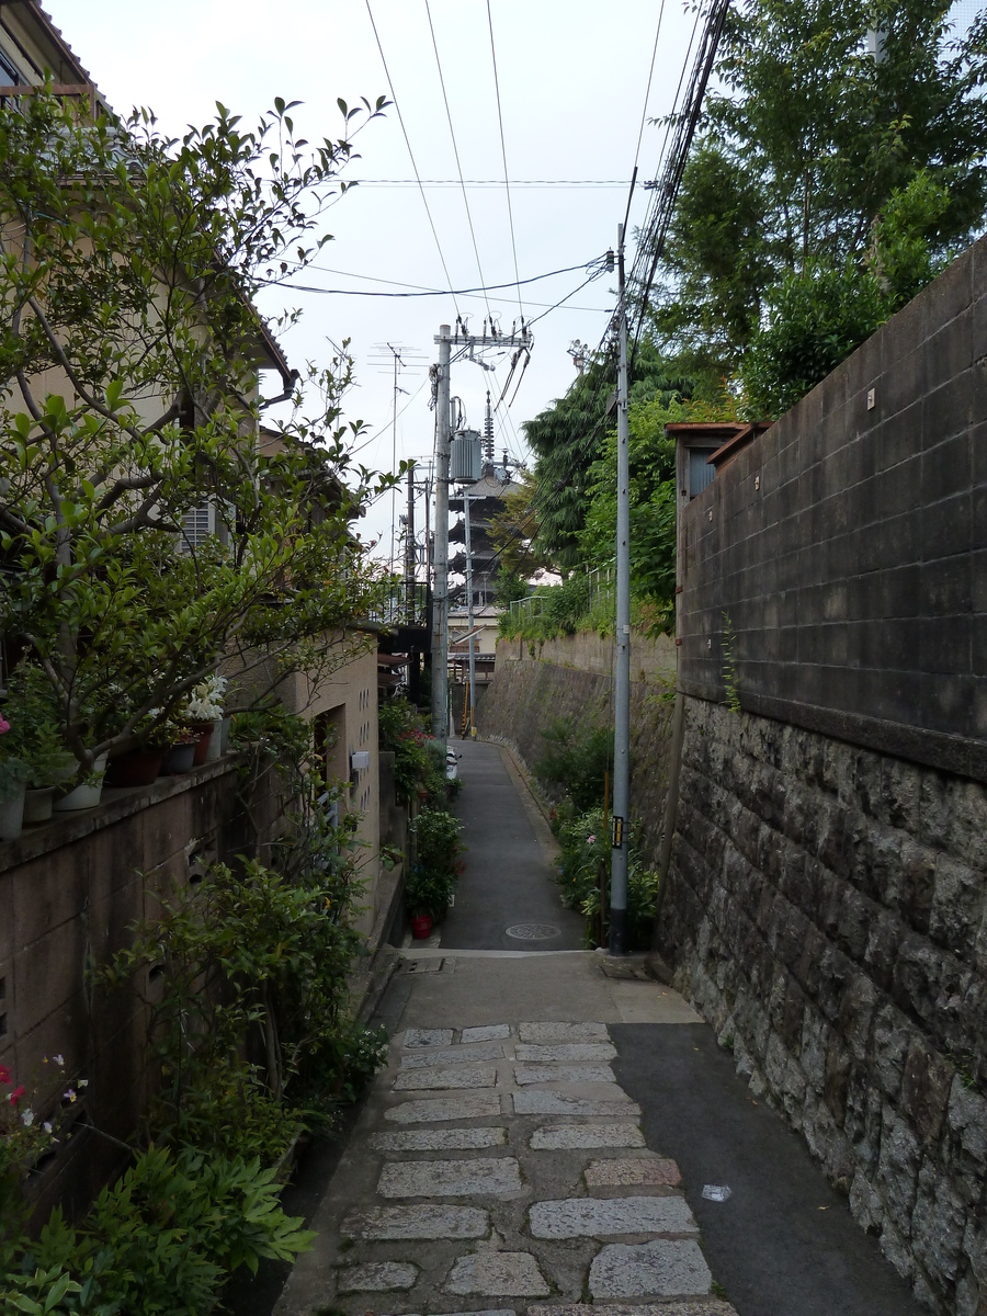
<svg viewBox="0 0 987 1316">
<path fill-rule="evenodd" d="M 624 300 L 624 225 L 617 225 L 620 370 L 617 374 L 617 666 L 613 688 L 613 819 L 611 822 L 609 953 L 628 946 L 630 822 L 630 461 L 628 433 L 628 313 Z"/>
</svg>

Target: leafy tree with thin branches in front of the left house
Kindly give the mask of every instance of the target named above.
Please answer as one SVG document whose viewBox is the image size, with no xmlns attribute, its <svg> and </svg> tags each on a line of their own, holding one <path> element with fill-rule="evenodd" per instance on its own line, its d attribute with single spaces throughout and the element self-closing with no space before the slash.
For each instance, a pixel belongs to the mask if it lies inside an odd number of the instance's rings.
<svg viewBox="0 0 987 1316">
<path fill-rule="evenodd" d="M 276 443 L 255 437 L 274 349 L 250 293 L 320 246 L 357 126 L 342 107 L 346 136 L 312 149 L 291 108 L 246 130 L 218 107 L 174 141 L 146 112 L 0 107 L 0 630 L 87 769 L 221 661 L 307 667 L 366 604 L 349 359 L 309 370 Z M 207 501 L 218 533 L 183 542 Z"/>
</svg>

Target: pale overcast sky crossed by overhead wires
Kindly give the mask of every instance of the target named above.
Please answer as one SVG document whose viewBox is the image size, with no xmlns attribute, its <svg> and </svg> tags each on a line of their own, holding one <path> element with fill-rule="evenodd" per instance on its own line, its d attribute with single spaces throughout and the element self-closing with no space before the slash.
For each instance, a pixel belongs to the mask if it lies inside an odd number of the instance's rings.
<svg viewBox="0 0 987 1316">
<path fill-rule="evenodd" d="M 665 129 L 646 120 L 672 104 L 695 21 L 682 0 L 295 0 L 283 9 L 258 0 L 171 0 L 166 11 L 133 0 L 43 3 L 111 105 L 120 113 L 150 107 L 167 133 L 204 122 L 217 100 L 253 124 L 282 96 L 303 101 L 296 124 L 320 141 L 341 136 L 337 97 L 350 105 L 361 96 L 395 99 L 396 109 L 361 133 L 361 159 L 345 176 L 365 182 L 326 213 L 333 241 L 322 247 L 318 268 L 299 280 L 347 295 L 278 288 L 258 304 L 267 316 L 301 309 L 300 324 L 280 340 L 293 366 L 328 363 L 332 342 L 350 340 L 357 383 L 345 416 L 368 426 L 357 459 L 374 470 L 432 455 L 428 365 L 441 324 L 453 325 L 462 313 L 480 333 L 490 309 L 511 333 L 521 315 L 528 322 L 544 315 L 533 324 L 534 349 L 516 396 L 517 375 L 495 420 L 497 458 L 504 449 L 512 461 L 528 455 L 521 424 L 565 393 L 575 378 L 567 347 L 574 340 L 595 346 L 613 309 L 613 276 L 575 290 L 587 263 L 616 245 L 636 158 L 641 180 L 655 176 Z M 467 186 L 465 200 L 457 149 L 466 180 L 497 186 Z M 413 182 L 416 168 L 429 180 L 428 209 Z M 449 179 L 455 186 L 432 182 Z M 638 186 L 629 254 L 646 204 Z M 447 291 L 450 283 L 490 287 L 555 270 L 567 272 L 525 284 L 520 307 L 512 287 L 490 293 L 488 303 L 483 295 Z M 354 295 L 412 291 L 407 286 L 445 292 Z M 563 297 L 570 300 L 550 311 Z M 396 426 L 388 343 L 404 362 Z M 487 388 L 496 403 L 509 370 L 507 355 L 487 359 L 495 371 L 461 363 L 451 372 L 451 392 L 476 429 Z M 268 384 L 271 393 L 280 391 L 276 380 Z M 393 504 L 400 513 L 403 496 Z M 416 517 L 421 525 L 421 508 Z M 375 551 L 384 558 L 391 524 L 391 495 L 361 522 L 362 538 L 378 540 Z"/>
</svg>

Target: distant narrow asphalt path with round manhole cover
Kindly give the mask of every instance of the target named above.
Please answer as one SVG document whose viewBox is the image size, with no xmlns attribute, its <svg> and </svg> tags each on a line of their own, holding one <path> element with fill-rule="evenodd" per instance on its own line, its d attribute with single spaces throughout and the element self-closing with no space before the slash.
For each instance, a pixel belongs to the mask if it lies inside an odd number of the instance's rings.
<svg viewBox="0 0 987 1316">
<path fill-rule="evenodd" d="M 497 745 L 449 744 L 462 754 L 457 813 L 468 848 L 441 945 L 579 950 L 583 920 L 563 907 L 553 879 L 558 846 L 509 755 Z"/>
</svg>

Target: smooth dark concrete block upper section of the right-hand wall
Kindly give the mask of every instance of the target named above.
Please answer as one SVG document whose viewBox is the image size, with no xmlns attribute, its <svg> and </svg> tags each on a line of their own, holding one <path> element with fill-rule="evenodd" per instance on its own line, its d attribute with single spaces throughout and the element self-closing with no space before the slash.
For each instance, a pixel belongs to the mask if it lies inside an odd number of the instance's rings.
<svg viewBox="0 0 987 1316">
<path fill-rule="evenodd" d="M 679 584 L 688 694 L 729 647 L 746 709 L 987 780 L 987 238 L 682 509 Z"/>
</svg>

